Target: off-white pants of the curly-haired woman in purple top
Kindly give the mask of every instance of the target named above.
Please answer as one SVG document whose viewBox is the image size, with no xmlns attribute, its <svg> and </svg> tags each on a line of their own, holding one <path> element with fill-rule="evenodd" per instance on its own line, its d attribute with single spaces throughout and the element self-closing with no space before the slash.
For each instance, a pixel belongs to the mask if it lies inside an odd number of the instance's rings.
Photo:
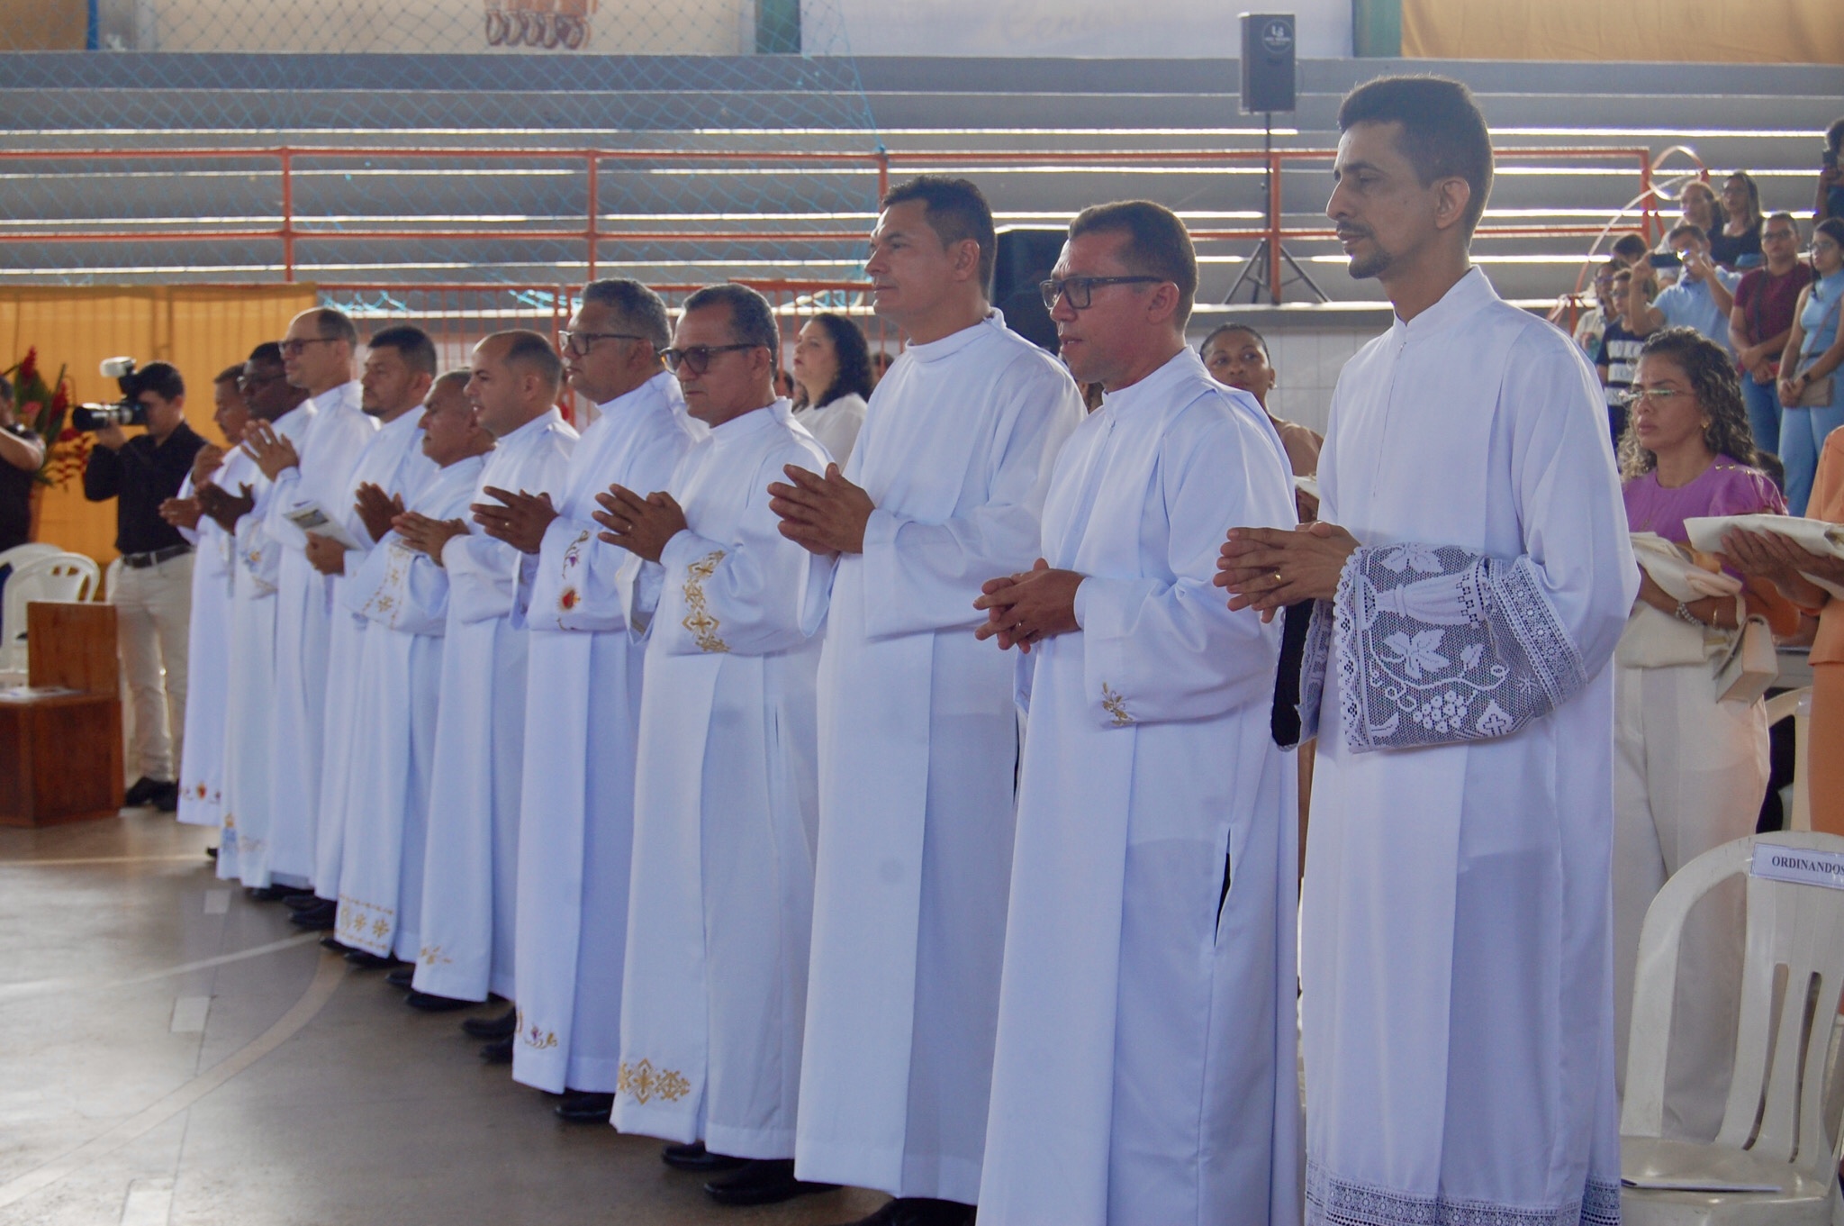
<svg viewBox="0 0 1844 1226">
<path fill-rule="evenodd" d="M 1754 833 L 1767 795 L 1767 708 L 1717 702 L 1711 667 L 1615 666 L 1614 1025 L 1626 1084 L 1639 927 L 1671 874 Z M 1741 881 L 1685 918 L 1665 1066 L 1665 1136 L 1713 1139 L 1722 1125 L 1741 1008 Z"/>
</svg>

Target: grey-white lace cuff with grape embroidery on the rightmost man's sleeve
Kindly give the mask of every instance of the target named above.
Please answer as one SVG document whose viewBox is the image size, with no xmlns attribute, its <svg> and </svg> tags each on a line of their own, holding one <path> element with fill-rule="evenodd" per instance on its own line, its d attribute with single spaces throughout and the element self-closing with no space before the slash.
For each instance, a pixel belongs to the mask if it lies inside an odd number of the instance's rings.
<svg viewBox="0 0 1844 1226">
<path fill-rule="evenodd" d="M 1339 575 L 1330 621 L 1353 752 L 1510 736 L 1588 684 L 1523 557 L 1361 546 Z"/>
</svg>

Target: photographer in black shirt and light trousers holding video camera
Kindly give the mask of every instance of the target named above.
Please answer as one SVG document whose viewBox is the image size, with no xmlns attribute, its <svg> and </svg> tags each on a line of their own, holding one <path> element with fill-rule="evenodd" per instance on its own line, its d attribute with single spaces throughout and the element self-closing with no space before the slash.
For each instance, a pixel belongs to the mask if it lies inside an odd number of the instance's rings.
<svg viewBox="0 0 1844 1226">
<path fill-rule="evenodd" d="M 116 607 L 116 642 L 135 704 L 135 760 L 140 778 L 127 804 L 179 808 L 173 763 L 186 719 L 186 632 L 192 619 L 192 546 L 160 518 L 192 472 L 205 439 L 186 426 L 186 383 L 170 363 L 129 369 L 120 380 L 122 406 L 85 406 L 96 448 L 83 468 L 83 496 L 116 500 L 116 549 L 122 570 L 109 590 Z M 144 426 L 129 437 L 125 424 Z"/>
</svg>

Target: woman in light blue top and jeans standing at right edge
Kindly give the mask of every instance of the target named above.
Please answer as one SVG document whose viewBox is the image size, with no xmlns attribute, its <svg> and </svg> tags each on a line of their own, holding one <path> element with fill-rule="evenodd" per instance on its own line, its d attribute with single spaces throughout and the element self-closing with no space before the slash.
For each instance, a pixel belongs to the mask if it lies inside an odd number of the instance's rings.
<svg viewBox="0 0 1844 1226">
<path fill-rule="evenodd" d="M 1785 354 L 1798 358 L 1781 358 L 1779 365 L 1779 463 L 1787 468 L 1787 507 L 1792 514 L 1805 514 L 1826 435 L 1844 426 L 1844 378 L 1837 376 L 1838 363 L 1844 363 L 1844 334 L 1838 330 L 1844 219 L 1826 218 L 1813 230 L 1813 271 L 1818 277 L 1800 291 L 1792 332 L 1787 334 Z M 1829 387 L 1831 395 L 1820 406 L 1802 409 L 1800 400 L 1811 387 Z"/>
</svg>

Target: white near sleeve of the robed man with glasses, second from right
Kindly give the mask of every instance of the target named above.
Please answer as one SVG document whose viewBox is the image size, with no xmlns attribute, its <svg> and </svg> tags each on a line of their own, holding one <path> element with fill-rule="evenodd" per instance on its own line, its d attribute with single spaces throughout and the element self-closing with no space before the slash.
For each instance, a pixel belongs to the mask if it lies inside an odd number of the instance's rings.
<svg viewBox="0 0 1844 1226">
<path fill-rule="evenodd" d="M 1208 719 L 1272 699 L 1280 627 L 1230 612 L 1212 577 L 1232 524 L 1293 527 L 1291 477 L 1272 444 L 1241 422 L 1175 430 L 1162 446 L 1149 514 L 1165 520 L 1165 557 L 1141 579 L 1088 577 L 1077 588 L 1082 690 L 1103 726 Z M 1141 533 L 1147 538 L 1147 533 Z"/>
</svg>

